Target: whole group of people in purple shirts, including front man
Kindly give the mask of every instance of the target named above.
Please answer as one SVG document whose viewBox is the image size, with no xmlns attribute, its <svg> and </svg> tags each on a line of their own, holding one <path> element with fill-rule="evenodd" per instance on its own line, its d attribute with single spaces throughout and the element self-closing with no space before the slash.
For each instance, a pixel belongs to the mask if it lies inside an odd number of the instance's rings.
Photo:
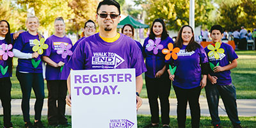
<svg viewBox="0 0 256 128">
<path fill-rule="evenodd" d="M 151 122 L 145 127 L 159 127 L 160 99 L 163 127 L 170 127 L 170 89 L 173 85 L 177 97 L 178 127 L 186 127 L 186 108 L 189 103 L 192 127 L 200 127 L 199 96 L 205 87 L 209 111 L 214 127 L 220 126 L 218 102 L 221 96 L 227 115 L 234 127 L 241 127 L 237 115 L 236 88 L 232 84 L 230 70 L 237 66 L 237 54 L 228 44 L 222 43 L 223 28 L 211 27 L 212 44 L 205 49 L 195 42 L 191 26 L 180 28 L 173 42 L 166 31 L 163 19 L 156 19 L 144 44 L 133 40 L 134 28 L 126 24 L 122 33 L 117 32 L 120 22 L 120 4 L 115 0 L 101 1 L 97 7 L 96 21 L 99 33 L 95 33 L 95 22 L 84 24 L 84 37 L 72 45 L 65 36 L 62 17 L 54 21 L 55 33 L 45 40 L 38 33 L 39 20 L 30 16 L 26 20 L 28 31 L 10 33 L 6 20 L 0 21 L 0 74 L 1 102 L 4 110 L 4 127 L 13 127 L 11 122 L 12 58 L 19 58 L 16 76 L 22 90 L 22 113 L 25 127 L 44 127 L 41 122 L 44 103 L 44 77 L 42 62 L 47 63 L 48 123 L 51 126 L 67 126 L 65 105 L 71 106 L 70 70 L 97 70 L 115 68 L 136 69 L 136 108 L 142 100 L 140 92 L 145 82 L 151 113 Z M 124 61 L 117 67 L 108 64 L 93 65 L 95 52 L 112 52 Z M 3 54 L 2 54 L 3 53 Z M 7 59 L 6 59 L 7 58 Z M 144 62 L 145 60 L 145 62 Z M 31 89 L 36 95 L 35 121 L 30 122 L 29 99 Z M 68 95 L 67 95 L 68 91 Z M 67 95 L 67 97 L 66 97 Z M 65 102 L 66 100 L 66 102 Z M 58 104 L 58 105 L 56 105 Z M 121 106 L 120 106 L 121 107 Z"/>
</svg>

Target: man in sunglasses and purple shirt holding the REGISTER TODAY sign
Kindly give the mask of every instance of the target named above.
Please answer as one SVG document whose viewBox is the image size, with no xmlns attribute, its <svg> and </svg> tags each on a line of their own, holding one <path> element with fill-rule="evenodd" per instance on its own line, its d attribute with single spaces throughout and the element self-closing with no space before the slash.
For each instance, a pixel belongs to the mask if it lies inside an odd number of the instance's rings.
<svg viewBox="0 0 256 128">
<path fill-rule="evenodd" d="M 147 69 L 140 48 L 134 40 L 116 32 L 117 24 L 120 22 L 120 5 L 115 0 L 100 2 L 96 19 L 99 24 L 99 33 L 81 40 L 67 66 L 73 70 L 135 68 L 136 94 L 134 95 L 137 95 L 138 109 L 142 104 L 139 97 L 143 85 L 141 74 Z M 70 76 L 67 84 L 70 93 Z M 66 100 L 71 106 L 70 94 Z"/>
</svg>

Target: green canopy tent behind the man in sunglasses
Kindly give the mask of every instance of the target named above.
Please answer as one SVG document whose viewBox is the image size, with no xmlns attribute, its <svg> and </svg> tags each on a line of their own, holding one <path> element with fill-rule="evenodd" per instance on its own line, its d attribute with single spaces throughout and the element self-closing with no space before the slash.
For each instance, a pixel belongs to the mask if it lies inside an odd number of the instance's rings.
<svg viewBox="0 0 256 128">
<path fill-rule="evenodd" d="M 134 29 L 136 28 L 149 28 L 147 24 L 141 24 L 140 22 L 133 19 L 130 15 L 125 17 L 120 23 L 118 24 L 117 28 L 123 28 L 125 24 L 131 24 Z"/>
</svg>

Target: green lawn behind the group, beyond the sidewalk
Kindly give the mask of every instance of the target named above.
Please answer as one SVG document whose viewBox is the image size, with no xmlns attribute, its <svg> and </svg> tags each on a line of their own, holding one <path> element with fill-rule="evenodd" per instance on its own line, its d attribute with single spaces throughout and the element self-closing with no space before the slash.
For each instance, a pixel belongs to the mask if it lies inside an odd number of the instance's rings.
<svg viewBox="0 0 256 128">
<path fill-rule="evenodd" d="M 233 84 L 236 86 L 237 99 L 256 99 L 256 51 L 236 51 L 239 56 L 237 60 L 237 67 L 231 70 L 231 77 Z M 16 67 L 17 58 L 14 58 L 13 65 Z M 15 76 L 16 68 L 13 68 L 12 81 L 12 98 L 20 99 L 22 93 L 20 90 L 19 81 Z M 144 74 L 143 74 L 144 77 Z M 48 96 L 48 91 L 45 81 L 45 97 Z M 205 90 L 201 92 L 201 96 L 205 97 Z M 35 98 L 33 91 L 31 97 Z M 147 98 L 147 90 L 145 80 L 143 82 L 143 89 L 141 90 L 140 97 Z M 170 98 L 175 98 L 173 88 L 170 92 Z"/>
</svg>

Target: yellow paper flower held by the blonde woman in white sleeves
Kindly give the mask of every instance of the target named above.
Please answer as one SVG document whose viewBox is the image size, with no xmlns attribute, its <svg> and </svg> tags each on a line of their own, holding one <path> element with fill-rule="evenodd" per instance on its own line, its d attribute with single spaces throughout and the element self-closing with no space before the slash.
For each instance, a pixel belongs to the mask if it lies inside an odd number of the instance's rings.
<svg viewBox="0 0 256 128">
<path fill-rule="evenodd" d="M 43 54 L 44 53 L 44 49 L 48 48 L 48 45 L 44 44 L 44 42 L 45 42 L 44 38 L 41 38 L 40 42 L 38 40 L 36 40 L 36 39 L 33 42 L 34 42 L 35 46 L 32 48 L 32 50 L 34 52 L 38 52 L 38 54 Z"/>
</svg>

